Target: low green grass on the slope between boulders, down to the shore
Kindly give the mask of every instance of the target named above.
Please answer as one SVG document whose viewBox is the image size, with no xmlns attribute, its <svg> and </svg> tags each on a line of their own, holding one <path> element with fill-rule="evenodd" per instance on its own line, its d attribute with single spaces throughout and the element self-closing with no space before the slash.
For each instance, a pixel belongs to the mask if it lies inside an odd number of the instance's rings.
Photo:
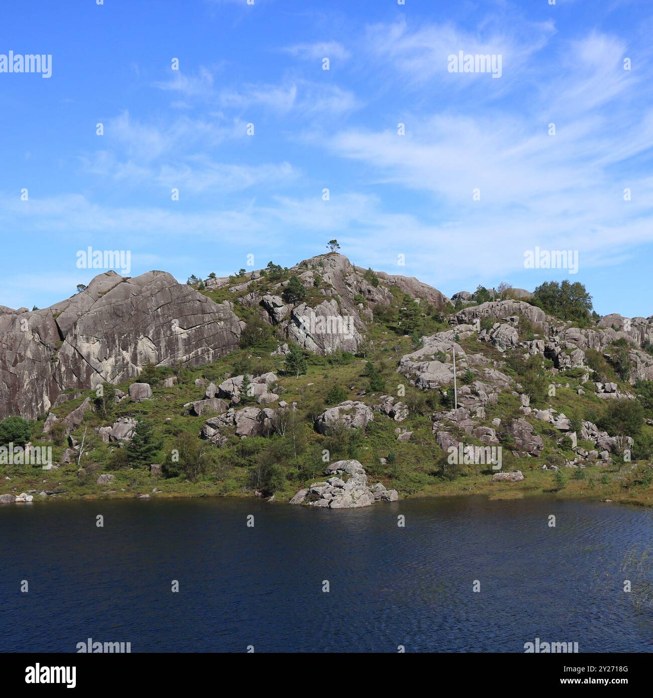
<svg viewBox="0 0 653 698">
<path fill-rule="evenodd" d="M 229 292 L 221 290 L 217 292 L 222 299 Z M 207 295 L 209 293 L 207 292 Z M 210 295 L 214 295 L 211 292 Z M 233 296 L 232 296 L 233 297 Z M 217 298 L 218 299 L 218 298 Z M 238 306 L 237 306 L 238 307 Z M 244 311 L 244 309 L 242 309 Z M 244 314 L 247 314 L 244 312 Z M 436 319 L 429 318 L 425 327 L 425 334 L 432 334 L 438 329 L 444 329 Z M 397 394 L 400 384 L 406 387 L 406 398 L 409 399 L 414 389 L 409 387 L 408 380 L 399 373 L 395 367 L 398 359 L 406 352 L 412 350 L 411 343 L 407 337 L 399 336 L 393 331 L 392 325 L 376 322 L 369 327 L 369 339 L 372 340 L 372 352 L 369 356 L 377 367 L 381 369 L 383 378 L 386 379 L 387 394 Z M 491 359 L 500 357 L 499 352 L 476 339 L 466 339 L 463 345 L 467 350 L 474 352 L 482 351 Z M 305 376 L 300 378 L 282 375 L 283 357 L 270 357 L 270 350 L 276 346 L 276 341 L 271 340 L 263 343 L 258 350 L 239 350 L 227 357 L 219 359 L 214 364 L 201 366 L 196 369 L 185 370 L 179 376 L 179 384 L 175 387 L 164 389 L 154 387 L 154 396 L 151 401 L 144 401 L 135 405 L 129 400 L 125 400 L 115 408 L 115 412 L 110 419 L 102 419 L 98 413 L 90 410 L 86 414 L 85 422 L 75 430 L 73 436 L 78 441 L 82 440 L 85 428 L 86 445 L 90 447 L 88 456 L 82 460 L 82 466 L 86 475 L 78 475 L 77 463 L 61 466 L 59 470 L 46 472 L 40 467 L 33 466 L 0 466 L 0 478 L 4 482 L 3 492 L 27 491 L 29 489 L 42 489 L 49 491 L 64 491 L 61 496 L 69 498 L 95 498 L 100 496 L 133 497 L 140 493 L 152 493 L 155 487 L 161 490 L 156 493 L 157 497 L 166 496 L 251 496 L 252 490 L 248 487 L 249 470 L 252 463 L 256 461 L 256 453 L 265 450 L 281 440 L 281 437 L 272 438 L 252 438 L 239 441 L 237 438 L 230 438 L 227 447 L 215 449 L 217 465 L 211 468 L 210 472 L 200 477 L 196 482 L 184 480 L 183 477 L 166 479 L 155 478 L 149 475 L 145 469 L 135 470 L 123 468 L 122 470 L 108 470 L 110 462 L 110 451 L 114 445 L 103 444 L 95 428 L 112 424 L 117 417 L 123 415 L 145 416 L 152 424 L 156 435 L 163 440 L 163 454 L 173 449 L 177 443 L 177 438 L 181 433 L 191 433 L 197 436 L 201 426 L 207 416 L 192 417 L 184 414 L 184 403 L 203 398 L 203 388 L 195 385 L 196 378 L 213 380 L 219 383 L 224 378 L 234 374 L 237 362 L 244 355 L 251 356 L 251 362 L 255 373 L 274 371 L 279 376 L 278 384 L 284 388 L 281 399 L 287 402 L 296 401 L 298 403 L 299 424 L 298 437 L 303 442 L 305 448 L 298 459 L 288 456 L 279 461 L 284 468 L 284 482 L 276 491 L 276 499 L 287 501 L 295 491 L 302 486 L 306 486 L 315 480 L 322 479 L 324 463 L 321 460 L 321 453 L 324 448 L 330 448 L 330 460 L 340 458 L 356 457 L 363 464 L 369 475 L 370 484 L 383 482 L 387 487 L 397 489 L 402 497 L 413 496 L 450 496 L 464 493 L 486 493 L 494 498 L 527 496 L 528 494 L 552 493 L 557 497 L 588 496 L 595 499 L 612 499 L 624 503 L 638 503 L 641 505 L 653 505 L 653 487 L 642 484 L 643 473 L 647 468 L 647 463 L 622 463 L 619 470 L 617 464 L 610 466 L 589 466 L 583 472 L 584 480 L 576 480 L 573 468 L 562 468 L 567 479 L 564 489 L 554 491 L 553 477 L 551 471 L 540 470 L 542 463 L 552 456 L 573 458 L 571 450 L 565 451 L 557 444 L 560 436 L 557 430 L 549 424 L 533 421 L 536 432 L 545 441 L 545 449 L 540 458 L 515 458 L 507 449 L 504 449 L 504 470 L 522 470 L 525 475 L 523 482 L 505 483 L 492 482 L 491 471 L 479 472 L 478 468 L 472 469 L 474 472 L 465 476 L 455 477 L 453 480 L 446 480 L 439 477 L 436 470 L 436 461 L 441 459 L 443 452 L 436 445 L 435 436 L 431 431 L 432 421 L 431 408 L 425 408 L 425 414 L 411 414 L 411 416 L 400 424 L 392 421 L 380 413 L 374 414 L 374 422 L 367 427 L 365 435 L 361 435 L 360 443 L 357 447 L 344 445 L 339 450 L 332 443 L 332 440 L 319 435 L 312 429 L 309 415 L 325 408 L 325 396 L 330 388 L 337 384 L 346 390 L 348 399 L 360 399 L 369 405 L 373 405 L 379 393 L 365 396 L 356 394 L 369 388 L 369 380 L 362 375 L 364 360 L 360 358 L 351 359 L 349 362 L 333 365 L 323 357 L 309 357 L 309 366 Z M 506 373 L 511 373 L 508 369 Z M 168 371 L 168 374 L 172 371 Z M 599 400 L 589 390 L 585 396 L 578 395 L 577 378 L 566 376 L 564 373 L 552 378 L 555 383 L 562 383 L 564 386 L 569 383 L 570 387 L 557 389 L 556 396 L 546 398 L 543 406 L 551 406 L 566 415 L 577 413 L 585 418 L 596 418 L 606 409 L 606 403 Z M 129 384 L 119 385 L 125 392 Z M 587 385 L 585 386 L 587 388 Z M 58 416 L 65 416 L 75 407 L 82 403 L 86 396 L 94 397 L 93 392 L 85 392 L 78 399 L 68 401 L 64 405 L 54 408 L 54 413 Z M 274 408 L 274 404 L 270 407 Z M 493 417 L 500 417 L 504 422 L 511 416 L 521 415 L 518 411 L 519 401 L 516 396 L 509 392 L 504 392 L 499 398 L 496 406 L 489 406 L 486 410 L 486 419 L 479 424 L 492 424 Z M 413 431 L 413 436 L 408 442 L 398 442 L 395 429 L 401 426 L 402 429 Z M 39 441 L 43 419 L 34 426 L 34 445 L 52 445 L 47 441 Z M 646 427 L 648 431 L 653 431 L 651 427 Z M 286 436 L 286 440 L 289 437 Z M 474 442 L 473 439 L 466 438 L 467 442 Z M 247 442 L 247 443 L 246 443 Z M 287 441 L 286 441 L 287 443 Z M 277 443 L 278 445 L 278 443 Z M 582 442 L 579 445 L 585 445 Z M 586 445 L 588 448 L 589 445 Z M 59 462 L 61 453 L 65 446 L 53 447 L 53 462 Z M 390 462 L 382 464 L 380 458 L 388 458 L 389 454 L 394 454 L 394 459 L 390 455 Z M 158 461 L 161 462 L 161 459 Z M 115 475 L 115 482 L 110 486 L 98 486 L 97 476 L 100 473 L 111 472 Z M 10 481 L 6 480 L 10 477 Z M 115 490 L 115 494 L 106 495 L 105 491 Z"/>
</svg>

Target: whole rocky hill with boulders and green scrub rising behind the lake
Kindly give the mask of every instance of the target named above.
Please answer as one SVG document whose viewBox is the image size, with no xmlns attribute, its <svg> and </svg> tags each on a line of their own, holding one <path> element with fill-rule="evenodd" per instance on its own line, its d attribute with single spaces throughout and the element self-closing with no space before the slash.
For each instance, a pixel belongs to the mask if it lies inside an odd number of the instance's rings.
<svg viewBox="0 0 653 698">
<path fill-rule="evenodd" d="M 0 310 L 1 416 L 36 420 L 54 452 L 47 473 L 0 460 L 8 498 L 653 503 L 653 317 L 575 323 L 519 289 L 448 299 L 336 253 L 190 281 L 108 272 Z"/>
</svg>

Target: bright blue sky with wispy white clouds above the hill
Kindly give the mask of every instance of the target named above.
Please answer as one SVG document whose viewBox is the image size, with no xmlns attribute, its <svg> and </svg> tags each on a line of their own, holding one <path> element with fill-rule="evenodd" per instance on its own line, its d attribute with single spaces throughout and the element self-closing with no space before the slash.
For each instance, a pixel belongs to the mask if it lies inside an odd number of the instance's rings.
<svg viewBox="0 0 653 698">
<path fill-rule="evenodd" d="M 648 1 L 26 0 L 2 15 L 0 54 L 52 54 L 52 77 L 0 73 L 0 304 L 68 297 L 97 273 L 76 266 L 88 246 L 185 281 L 247 255 L 291 266 L 336 237 L 355 264 L 447 295 L 570 279 L 601 314 L 653 313 Z M 448 72 L 459 51 L 500 55 L 501 77 Z M 577 250 L 578 274 L 524 269 L 536 246 Z"/>
</svg>

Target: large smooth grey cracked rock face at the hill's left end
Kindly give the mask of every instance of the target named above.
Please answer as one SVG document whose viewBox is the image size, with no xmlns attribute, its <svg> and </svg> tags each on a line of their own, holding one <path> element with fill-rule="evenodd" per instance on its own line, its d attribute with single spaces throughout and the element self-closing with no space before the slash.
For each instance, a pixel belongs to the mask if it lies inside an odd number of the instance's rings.
<svg viewBox="0 0 653 698">
<path fill-rule="evenodd" d="M 237 348 L 240 331 L 226 306 L 166 272 L 106 272 L 50 308 L 0 309 L 0 418 L 36 419 L 64 389 L 136 378 L 148 362 L 212 362 Z"/>
</svg>

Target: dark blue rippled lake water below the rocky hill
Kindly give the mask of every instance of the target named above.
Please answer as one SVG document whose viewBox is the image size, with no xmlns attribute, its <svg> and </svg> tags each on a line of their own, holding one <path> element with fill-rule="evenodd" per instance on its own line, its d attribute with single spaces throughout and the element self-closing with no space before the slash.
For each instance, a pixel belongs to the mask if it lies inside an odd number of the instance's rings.
<svg viewBox="0 0 653 698">
<path fill-rule="evenodd" d="M 0 651 L 647 652 L 650 563 L 620 567 L 652 534 L 650 510 L 550 498 L 2 505 Z"/>
</svg>

